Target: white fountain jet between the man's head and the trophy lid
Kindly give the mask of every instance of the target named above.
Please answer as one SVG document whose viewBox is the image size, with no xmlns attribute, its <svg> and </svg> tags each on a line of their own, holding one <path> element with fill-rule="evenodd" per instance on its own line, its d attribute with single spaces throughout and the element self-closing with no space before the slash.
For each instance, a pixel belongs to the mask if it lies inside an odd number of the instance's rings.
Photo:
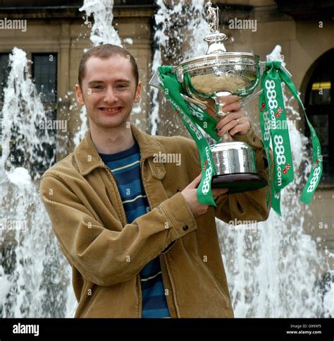
<svg viewBox="0 0 334 341">
<path fill-rule="evenodd" d="M 175 58 L 181 61 L 182 54 L 188 58 L 195 52 L 201 51 L 205 54 L 206 47 L 202 44 L 202 35 L 194 35 L 195 30 L 201 34 L 209 34 L 209 26 L 202 16 L 203 0 L 189 1 L 171 1 L 167 6 L 165 1 L 156 0 L 158 9 L 154 16 L 154 54 L 151 64 L 151 73 L 158 66 L 173 61 L 177 64 Z M 150 133 L 156 135 L 160 133 L 161 128 L 165 133 L 173 135 L 178 133 L 179 122 L 168 117 L 161 119 L 161 110 L 166 100 L 159 96 L 156 88 L 150 88 L 151 91 L 151 112 L 149 114 Z M 160 116 L 159 116 L 160 112 Z"/>
</svg>

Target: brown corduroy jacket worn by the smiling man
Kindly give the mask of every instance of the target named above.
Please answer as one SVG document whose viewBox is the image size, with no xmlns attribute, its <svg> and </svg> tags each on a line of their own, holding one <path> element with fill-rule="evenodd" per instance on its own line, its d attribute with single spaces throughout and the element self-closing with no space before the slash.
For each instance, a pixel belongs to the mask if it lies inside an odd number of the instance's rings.
<svg viewBox="0 0 334 341">
<path fill-rule="evenodd" d="M 195 219 L 180 193 L 200 173 L 194 141 L 131 128 L 151 208 L 133 222 L 126 221 L 116 181 L 90 131 L 42 177 L 42 200 L 73 269 L 75 317 L 142 317 L 140 270 L 156 256 L 171 317 L 233 317 L 215 216 L 266 220 L 266 188 L 224 194 L 217 208 Z M 268 179 L 261 140 L 252 131 L 235 139 L 252 145 L 258 172 Z M 180 153 L 180 165 L 156 162 L 159 152 Z"/>
</svg>

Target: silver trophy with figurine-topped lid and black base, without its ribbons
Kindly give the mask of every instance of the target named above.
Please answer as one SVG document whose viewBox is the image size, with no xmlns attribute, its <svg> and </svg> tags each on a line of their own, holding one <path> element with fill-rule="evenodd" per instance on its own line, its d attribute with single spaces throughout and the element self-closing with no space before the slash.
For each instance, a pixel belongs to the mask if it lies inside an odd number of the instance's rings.
<svg viewBox="0 0 334 341">
<path fill-rule="evenodd" d="M 204 40 L 208 51 L 204 56 L 182 61 L 174 71 L 187 91 L 183 98 L 203 109 L 210 107 L 219 121 L 229 114 L 223 112 L 224 97 L 238 95 L 245 104 L 259 95 L 260 92 L 253 92 L 259 83 L 261 62 L 256 54 L 226 52 L 223 42 L 228 37 L 218 32 L 218 8 L 213 8 L 209 1 L 206 13 L 210 34 Z M 151 85 L 159 86 L 157 77 L 154 74 Z M 212 188 L 228 188 L 229 193 L 237 193 L 266 186 L 266 180 L 257 174 L 254 150 L 247 143 L 234 141 L 225 133 L 210 150 L 217 172 L 212 178 Z"/>
</svg>

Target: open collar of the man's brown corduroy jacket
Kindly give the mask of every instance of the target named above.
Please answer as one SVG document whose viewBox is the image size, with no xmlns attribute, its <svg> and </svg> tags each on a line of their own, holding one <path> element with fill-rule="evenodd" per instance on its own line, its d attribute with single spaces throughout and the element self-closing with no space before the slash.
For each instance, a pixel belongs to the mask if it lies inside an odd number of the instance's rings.
<svg viewBox="0 0 334 341">
<path fill-rule="evenodd" d="M 140 131 L 133 124 L 131 124 L 131 131 L 140 146 L 141 160 L 149 159 L 149 167 L 153 176 L 159 180 L 163 179 L 166 174 L 165 167 L 163 167 L 162 163 L 153 162 L 152 160 L 154 155 L 159 155 L 159 152 L 165 152 L 163 146 L 153 136 Z M 75 147 L 74 155 L 79 172 L 83 176 L 89 174 L 95 168 L 106 167 L 94 146 L 90 129 L 86 131 L 85 138 Z"/>
</svg>

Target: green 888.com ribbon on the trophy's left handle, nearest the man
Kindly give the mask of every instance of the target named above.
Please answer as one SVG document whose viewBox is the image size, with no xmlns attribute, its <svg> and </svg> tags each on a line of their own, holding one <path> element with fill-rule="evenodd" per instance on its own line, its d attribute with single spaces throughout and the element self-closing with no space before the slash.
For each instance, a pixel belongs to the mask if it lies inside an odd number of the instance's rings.
<svg viewBox="0 0 334 341">
<path fill-rule="evenodd" d="M 212 160 L 211 151 L 206 138 L 198 126 L 204 129 L 206 133 L 218 141 L 216 136 L 216 120 L 209 114 L 204 112 L 198 105 L 189 103 L 183 99 L 181 94 L 186 94 L 183 85 L 180 84 L 173 73 L 173 66 L 159 66 L 160 79 L 162 88 L 173 109 L 180 116 L 181 121 L 185 124 L 187 131 L 194 139 L 199 150 L 199 157 L 202 167 L 202 180 L 197 188 L 198 202 L 204 205 L 214 205 L 216 203 L 211 192 L 211 179 L 216 175 L 216 167 Z M 198 125 L 198 126 L 197 126 Z"/>
</svg>

